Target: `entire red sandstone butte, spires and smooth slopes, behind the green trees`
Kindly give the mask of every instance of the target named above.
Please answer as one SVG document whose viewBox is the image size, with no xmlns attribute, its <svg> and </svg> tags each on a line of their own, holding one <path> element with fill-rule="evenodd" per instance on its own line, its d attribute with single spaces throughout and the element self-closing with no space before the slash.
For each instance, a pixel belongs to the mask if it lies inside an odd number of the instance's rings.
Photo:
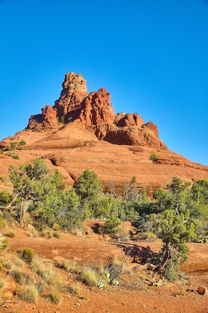
<svg viewBox="0 0 208 313">
<path fill-rule="evenodd" d="M 152 121 L 144 123 L 138 113 L 114 113 L 106 89 L 88 93 L 86 80 L 73 72 L 65 74 L 62 87 L 52 107 L 45 105 L 41 114 L 29 117 L 23 131 L 0 141 L 1 149 L 12 141 L 26 141 L 15 151 L 19 159 L 0 154 L 0 175 L 8 174 L 11 163 L 17 166 L 42 157 L 70 186 L 86 168 L 98 174 L 105 188 L 111 180 L 122 188 L 136 176 L 138 186 L 146 187 L 150 196 L 173 176 L 191 182 L 208 179 L 208 166 L 169 150 Z M 153 152 L 160 156 L 154 162 L 149 159 Z"/>
</svg>

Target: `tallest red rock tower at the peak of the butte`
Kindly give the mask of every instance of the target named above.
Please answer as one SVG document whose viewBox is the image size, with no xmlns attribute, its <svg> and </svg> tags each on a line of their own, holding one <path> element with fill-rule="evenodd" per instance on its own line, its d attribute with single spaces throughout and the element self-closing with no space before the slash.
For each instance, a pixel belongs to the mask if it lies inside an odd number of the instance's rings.
<svg viewBox="0 0 208 313">
<path fill-rule="evenodd" d="M 69 72 L 65 74 L 62 83 L 62 91 L 58 100 L 55 101 L 54 108 L 57 109 L 57 116 L 67 114 L 67 117 L 77 118 L 80 114 L 81 102 L 88 95 L 86 80 L 82 74 Z"/>
</svg>

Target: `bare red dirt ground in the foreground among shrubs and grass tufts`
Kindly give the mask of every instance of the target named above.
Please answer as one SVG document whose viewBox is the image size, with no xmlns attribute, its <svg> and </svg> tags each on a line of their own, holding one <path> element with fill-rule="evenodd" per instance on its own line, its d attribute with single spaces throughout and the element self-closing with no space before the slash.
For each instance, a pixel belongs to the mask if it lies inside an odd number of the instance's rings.
<svg viewBox="0 0 208 313">
<path fill-rule="evenodd" d="M 161 286 L 152 285 L 152 272 L 137 272 L 132 268 L 139 266 L 138 263 L 132 263 L 135 259 L 145 260 L 154 252 L 158 252 L 162 242 L 157 239 L 152 242 L 120 242 L 109 241 L 109 237 L 96 234 L 92 228 L 95 222 L 86 223 L 87 234 L 83 236 L 73 235 L 71 233 L 60 232 L 60 238 L 42 238 L 30 237 L 28 229 L 15 226 L 14 238 L 8 238 L 9 247 L 4 252 L 4 258 L 8 258 L 17 248 L 31 247 L 35 252 L 41 254 L 45 261 L 54 261 L 61 256 L 63 258 L 75 259 L 78 262 L 94 263 L 100 260 L 107 261 L 109 257 L 123 257 L 122 251 L 134 246 L 135 255 L 128 258 L 127 273 L 119 278 L 119 285 L 109 286 L 107 290 L 88 287 L 81 284 L 79 295 L 71 295 L 64 292 L 62 302 L 59 305 L 53 304 L 44 297 L 39 296 L 36 303 L 23 303 L 15 297 L 16 283 L 10 277 L 10 283 L 7 289 L 4 289 L 4 295 L 12 294 L 11 299 L 16 303 L 7 303 L 19 312 L 36 313 L 68 313 L 68 312 L 208 312 L 208 295 L 200 294 L 198 286 L 205 286 L 208 289 L 208 244 L 190 243 L 189 262 L 182 267 L 186 272 L 186 280 L 179 280 L 171 283 L 166 282 Z M 126 228 L 130 229 L 131 224 L 126 222 Z M 6 234 L 8 229 L 3 229 Z M 124 252 L 123 252 L 124 253 Z M 134 254 L 133 253 L 133 254 Z M 135 257 L 134 257 L 135 256 Z M 55 267 L 57 274 L 60 275 L 64 284 L 77 281 L 77 275 L 68 273 L 63 269 Z M 184 295 L 178 295 L 183 290 Z M 83 299 L 87 296 L 88 299 Z M 20 303 L 20 304 L 18 304 Z M 0 311 L 3 309 L 0 307 Z M 5 311 L 13 311 L 7 309 Z"/>
</svg>

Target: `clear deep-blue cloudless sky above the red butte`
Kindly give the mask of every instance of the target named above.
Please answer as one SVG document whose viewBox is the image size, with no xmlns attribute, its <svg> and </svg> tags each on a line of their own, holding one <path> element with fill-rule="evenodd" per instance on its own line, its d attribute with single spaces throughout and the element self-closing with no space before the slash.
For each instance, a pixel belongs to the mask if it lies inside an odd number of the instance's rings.
<svg viewBox="0 0 208 313">
<path fill-rule="evenodd" d="M 53 105 L 74 71 L 208 165 L 208 1 L 0 0 L 0 34 L 0 139 Z"/>
</svg>

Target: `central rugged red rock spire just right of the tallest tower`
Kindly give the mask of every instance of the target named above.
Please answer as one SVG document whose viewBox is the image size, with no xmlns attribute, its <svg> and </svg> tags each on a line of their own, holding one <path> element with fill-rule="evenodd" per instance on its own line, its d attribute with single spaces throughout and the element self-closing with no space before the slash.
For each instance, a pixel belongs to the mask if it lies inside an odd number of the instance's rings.
<svg viewBox="0 0 208 313">
<path fill-rule="evenodd" d="M 79 119 L 87 128 L 92 129 L 97 138 L 101 139 L 112 127 L 115 114 L 110 103 L 110 93 L 100 88 L 97 92 L 90 92 L 81 103 Z"/>
</svg>

